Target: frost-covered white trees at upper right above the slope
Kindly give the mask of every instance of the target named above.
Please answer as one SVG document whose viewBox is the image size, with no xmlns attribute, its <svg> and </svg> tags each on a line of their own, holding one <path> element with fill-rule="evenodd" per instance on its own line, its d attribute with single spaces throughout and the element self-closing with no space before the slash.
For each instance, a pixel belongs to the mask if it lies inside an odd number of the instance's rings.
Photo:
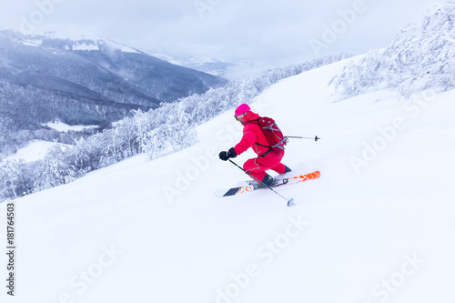
<svg viewBox="0 0 455 303">
<path fill-rule="evenodd" d="M 396 89 L 401 96 L 425 89 L 455 87 L 455 3 L 430 7 L 421 25 L 403 29 L 385 49 L 367 53 L 346 66 L 330 83 L 339 100 L 378 88 Z"/>
</svg>

